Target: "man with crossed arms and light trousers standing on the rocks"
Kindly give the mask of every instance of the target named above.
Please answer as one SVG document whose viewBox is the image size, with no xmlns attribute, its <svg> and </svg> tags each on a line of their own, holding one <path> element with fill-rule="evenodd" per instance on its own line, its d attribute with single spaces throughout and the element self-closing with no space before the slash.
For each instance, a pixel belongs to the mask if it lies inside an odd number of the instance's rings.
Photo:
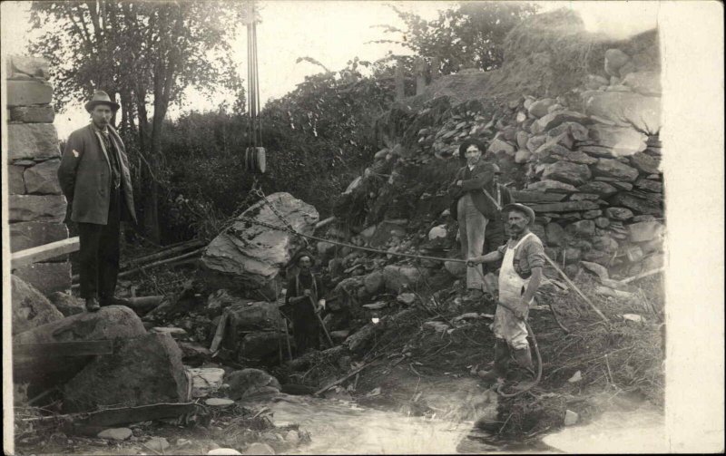
<svg viewBox="0 0 726 456">
<path fill-rule="evenodd" d="M 495 217 L 495 201 L 488 198 L 483 189 L 491 189 L 495 165 L 482 160 L 486 150 L 476 140 L 464 141 L 459 146 L 459 157 L 466 160 L 466 166 L 456 171 L 456 178 L 449 186 L 453 202 L 451 217 L 458 220 L 461 252 L 464 259 L 479 257 L 484 247 L 486 222 Z M 466 268 L 466 288 L 469 297 L 481 298 L 484 279 L 482 267 Z"/>
</svg>

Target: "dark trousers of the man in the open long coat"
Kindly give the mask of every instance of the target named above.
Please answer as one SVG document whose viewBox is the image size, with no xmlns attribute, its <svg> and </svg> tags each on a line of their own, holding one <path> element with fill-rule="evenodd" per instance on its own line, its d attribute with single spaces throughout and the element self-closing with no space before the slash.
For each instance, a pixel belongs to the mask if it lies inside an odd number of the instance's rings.
<svg viewBox="0 0 726 456">
<path fill-rule="evenodd" d="M 78 224 L 81 297 L 97 297 L 102 305 L 110 304 L 119 274 L 122 204 L 121 191 L 113 190 L 106 225 Z"/>
</svg>

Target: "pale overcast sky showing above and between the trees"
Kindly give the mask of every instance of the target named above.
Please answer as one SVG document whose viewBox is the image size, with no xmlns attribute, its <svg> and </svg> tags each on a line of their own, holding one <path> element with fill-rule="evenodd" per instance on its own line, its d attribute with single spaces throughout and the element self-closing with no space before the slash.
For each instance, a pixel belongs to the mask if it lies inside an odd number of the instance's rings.
<svg viewBox="0 0 726 456">
<path fill-rule="evenodd" d="M 262 102 L 279 98 L 295 88 L 305 76 L 319 73 L 318 66 L 296 63 L 298 57 L 309 56 L 330 70 L 343 68 L 348 60 L 358 56 L 374 61 L 388 50 L 405 53 L 392 44 L 370 44 L 387 37 L 376 24 L 401 25 L 387 6 L 395 4 L 425 18 L 434 18 L 439 9 L 453 2 L 406 1 L 264 1 L 261 5 L 262 23 L 258 25 L 258 59 L 260 65 L 260 96 Z M 660 2 L 540 2 L 542 11 L 560 7 L 578 11 L 588 30 L 617 37 L 652 28 L 657 21 Z M 25 45 L 34 37 L 30 29 L 30 2 L 3 2 L 3 53 L 25 53 Z M 388 36 L 392 37 L 392 36 Z M 234 44 L 239 56 L 239 72 L 247 81 L 246 34 L 240 34 Z M 189 93 L 190 103 L 184 110 L 215 109 L 222 101 L 230 101 L 230 93 L 219 93 L 208 101 Z M 170 115 L 178 113 L 172 110 Z M 56 116 L 55 125 L 61 138 L 83 125 L 88 116 L 82 105 L 68 106 Z"/>
</svg>

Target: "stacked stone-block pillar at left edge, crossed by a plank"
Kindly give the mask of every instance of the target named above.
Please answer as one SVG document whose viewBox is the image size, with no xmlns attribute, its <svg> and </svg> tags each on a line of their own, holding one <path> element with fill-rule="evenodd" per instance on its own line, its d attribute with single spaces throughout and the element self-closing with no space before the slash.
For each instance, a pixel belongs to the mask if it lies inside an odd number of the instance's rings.
<svg viewBox="0 0 726 456">
<path fill-rule="evenodd" d="M 7 59 L 7 189 L 10 248 L 15 252 L 68 238 L 65 197 L 56 176 L 61 162 L 53 125 L 48 63 L 14 55 Z M 48 295 L 71 287 L 68 256 L 19 267 L 17 276 Z"/>
</svg>

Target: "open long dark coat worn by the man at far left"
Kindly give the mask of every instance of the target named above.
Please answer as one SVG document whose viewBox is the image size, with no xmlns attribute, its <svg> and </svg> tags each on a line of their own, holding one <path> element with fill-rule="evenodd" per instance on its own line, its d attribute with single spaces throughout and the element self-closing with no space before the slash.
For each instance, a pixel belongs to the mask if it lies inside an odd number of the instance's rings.
<svg viewBox="0 0 726 456">
<path fill-rule="evenodd" d="M 110 138 L 118 153 L 121 171 L 121 188 L 127 211 L 123 220 L 136 222 L 133 210 L 133 189 L 129 174 L 129 159 L 123 141 L 112 127 L 108 127 Z M 108 153 L 113 153 L 109 150 Z M 108 209 L 111 202 L 111 161 L 103 151 L 101 139 L 96 135 L 93 124 L 71 133 L 65 144 L 61 166 L 58 168 L 61 189 L 71 207 L 71 220 L 81 223 L 108 223 Z"/>
</svg>

